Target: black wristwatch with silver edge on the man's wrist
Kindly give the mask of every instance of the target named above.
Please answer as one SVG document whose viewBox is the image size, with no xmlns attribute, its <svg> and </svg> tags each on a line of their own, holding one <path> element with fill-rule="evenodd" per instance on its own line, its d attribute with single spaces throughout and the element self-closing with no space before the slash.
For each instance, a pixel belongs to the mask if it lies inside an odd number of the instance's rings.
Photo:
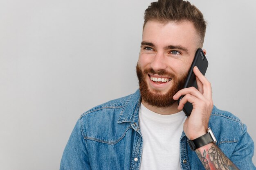
<svg viewBox="0 0 256 170">
<path fill-rule="evenodd" d="M 213 132 L 211 131 L 211 128 L 207 129 L 207 133 L 205 135 L 202 135 L 194 140 L 188 139 L 189 147 L 193 151 L 211 142 L 213 142 L 214 144 L 217 142 L 215 136 L 213 135 Z"/>
</svg>

